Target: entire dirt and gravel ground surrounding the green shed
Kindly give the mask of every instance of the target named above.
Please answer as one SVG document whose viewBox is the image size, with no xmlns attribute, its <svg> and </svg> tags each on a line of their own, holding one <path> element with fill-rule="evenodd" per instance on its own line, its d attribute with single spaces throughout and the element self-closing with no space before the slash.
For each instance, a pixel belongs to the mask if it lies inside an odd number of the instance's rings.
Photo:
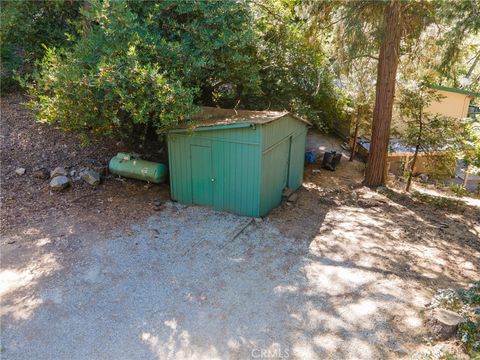
<svg viewBox="0 0 480 360">
<path fill-rule="evenodd" d="M 433 292 L 479 278 L 478 200 L 372 191 L 345 157 L 308 165 L 298 200 L 262 221 L 154 211 L 168 187 L 113 177 L 50 194 L 33 167 L 120 149 L 81 148 L 19 100 L 2 99 L 2 359 L 410 358 Z"/>
</svg>

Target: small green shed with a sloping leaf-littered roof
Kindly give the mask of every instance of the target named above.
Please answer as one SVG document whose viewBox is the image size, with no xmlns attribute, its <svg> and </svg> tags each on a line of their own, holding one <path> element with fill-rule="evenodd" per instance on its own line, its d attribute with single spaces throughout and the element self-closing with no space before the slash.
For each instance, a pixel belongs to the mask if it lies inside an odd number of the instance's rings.
<svg viewBox="0 0 480 360">
<path fill-rule="evenodd" d="M 302 184 L 307 126 L 289 112 L 202 108 L 168 133 L 172 200 L 263 216 Z"/>
</svg>

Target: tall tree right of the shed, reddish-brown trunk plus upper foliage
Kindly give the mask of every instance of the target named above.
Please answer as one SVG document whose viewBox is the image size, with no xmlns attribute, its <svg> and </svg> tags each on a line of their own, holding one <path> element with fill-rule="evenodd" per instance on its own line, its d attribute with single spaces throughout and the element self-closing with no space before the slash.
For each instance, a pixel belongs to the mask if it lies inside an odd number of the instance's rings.
<svg viewBox="0 0 480 360">
<path fill-rule="evenodd" d="M 426 28 L 438 25 L 442 32 L 436 43 L 445 49 L 438 69 L 445 73 L 459 59 L 463 41 L 478 34 L 479 8 L 478 0 L 306 2 L 303 13 L 314 28 L 331 26 L 340 29 L 343 36 L 342 46 L 337 47 L 339 51 L 344 50 L 350 59 L 378 57 L 365 184 L 377 186 L 385 181 L 395 79 L 401 55 L 415 49 Z M 478 51 L 474 54 L 478 55 Z M 470 69 L 478 62 L 476 55 Z M 467 74 L 471 73 L 470 69 Z"/>
</svg>

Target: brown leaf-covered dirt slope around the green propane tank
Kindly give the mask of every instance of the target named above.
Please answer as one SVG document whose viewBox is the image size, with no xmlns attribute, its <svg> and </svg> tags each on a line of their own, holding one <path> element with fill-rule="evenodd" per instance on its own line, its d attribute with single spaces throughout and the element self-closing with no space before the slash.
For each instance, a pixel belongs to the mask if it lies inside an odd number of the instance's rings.
<svg viewBox="0 0 480 360">
<path fill-rule="evenodd" d="M 113 139 L 81 146 L 74 134 L 35 122 L 22 105 L 28 100 L 26 97 L 16 94 L 0 100 L 2 234 L 21 236 L 22 230 L 33 225 L 55 228 L 60 218 L 72 219 L 77 228 L 107 231 L 113 223 L 121 226 L 144 218 L 151 213 L 155 199 L 169 198 L 167 186 L 149 187 L 113 175 L 104 177 L 98 188 L 77 181 L 61 193 L 50 191 L 49 180 L 35 178 L 35 170 L 51 171 L 62 166 L 78 174 L 82 167 L 105 167 L 117 152 L 131 149 Z M 164 158 L 161 154 L 145 155 L 157 161 Z M 25 168 L 25 175 L 17 175 L 17 168 Z"/>
</svg>

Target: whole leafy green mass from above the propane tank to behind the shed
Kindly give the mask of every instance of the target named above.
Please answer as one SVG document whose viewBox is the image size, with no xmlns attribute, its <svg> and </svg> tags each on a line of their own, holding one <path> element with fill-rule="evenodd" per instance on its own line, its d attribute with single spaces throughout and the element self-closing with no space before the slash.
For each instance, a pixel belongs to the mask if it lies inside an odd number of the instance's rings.
<svg viewBox="0 0 480 360">
<path fill-rule="evenodd" d="M 235 39 L 226 40 L 225 35 L 208 47 L 204 38 L 209 24 L 218 25 L 207 16 L 215 10 L 222 16 L 223 31 L 233 32 L 235 21 L 227 24 L 225 18 L 232 4 L 145 3 L 142 11 L 148 14 L 139 18 L 125 2 L 92 3 L 85 12 L 88 28 L 76 44 L 67 50 L 47 49 L 29 88 L 31 108 L 40 121 L 87 134 L 139 135 L 149 127 L 160 132 L 187 119 L 196 110 L 193 103 L 202 87 L 211 85 L 207 80 L 238 75 L 213 69 L 215 64 L 240 61 L 239 53 L 229 49 Z M 203 33 L 188 26 L 182 33 L 175 16 L 189 18 L 190 25 L 207 25 Z"/>
</svg>

